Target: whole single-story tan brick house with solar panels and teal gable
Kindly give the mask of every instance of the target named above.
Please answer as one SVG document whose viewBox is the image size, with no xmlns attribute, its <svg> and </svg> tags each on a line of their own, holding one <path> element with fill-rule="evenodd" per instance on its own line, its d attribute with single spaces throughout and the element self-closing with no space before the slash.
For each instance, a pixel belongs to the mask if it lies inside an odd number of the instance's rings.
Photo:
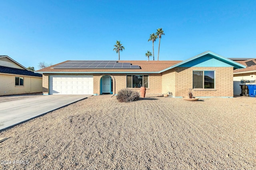
<svg viewBox="0 0 256 170">
<path fill-rule="evenodd" d="M 140 89 L 146 96 L 233 97 L 233 69 L 244 65 L 206 51 L 186 61 L 65 61 L 36 72 L 43 74 L 43 94 L 117 94 Z"/>
</svg>

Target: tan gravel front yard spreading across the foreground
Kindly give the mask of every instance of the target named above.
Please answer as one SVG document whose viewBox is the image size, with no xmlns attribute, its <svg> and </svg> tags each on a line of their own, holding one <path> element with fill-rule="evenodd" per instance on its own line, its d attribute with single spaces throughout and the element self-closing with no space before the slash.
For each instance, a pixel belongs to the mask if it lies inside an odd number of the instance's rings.
<svg viewBox="0 0 256 170">
<path fill-rule="evenodd" d="M 3 170 L 255 170 L 256 98 L 95 96 L 0 137 Z"/>
</svg>

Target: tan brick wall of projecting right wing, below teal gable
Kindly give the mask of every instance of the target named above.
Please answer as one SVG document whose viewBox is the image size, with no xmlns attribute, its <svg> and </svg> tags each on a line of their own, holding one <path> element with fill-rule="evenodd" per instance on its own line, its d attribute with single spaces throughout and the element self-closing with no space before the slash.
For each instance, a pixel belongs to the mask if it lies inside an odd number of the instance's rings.
<svg viewBox="0 0 256 170">
<path fill-rule="evenodd" d="M 167 86 L 166 84 L 171 80 L 168 75 L 175 74 L 173 96 L 187 96 L 189 88 L 193 88 L 193 70 L 215 71 L 215 89 L 194 89 L 194 96 L 233 97 L 233 67 L 176 67 L 163 73 L 163 84 Z"/>
</svg>

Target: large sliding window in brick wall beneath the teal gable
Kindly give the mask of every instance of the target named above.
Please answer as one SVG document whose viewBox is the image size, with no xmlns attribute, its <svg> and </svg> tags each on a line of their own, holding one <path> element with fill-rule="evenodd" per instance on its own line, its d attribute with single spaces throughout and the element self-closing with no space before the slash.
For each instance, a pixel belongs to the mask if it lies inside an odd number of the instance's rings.
<svg viewBox="0 0 256 170">
<path fill-rule="evenodd" d="M 193 88 L 214 88 L 214 71 L 193 71 Z"/>
</svg>

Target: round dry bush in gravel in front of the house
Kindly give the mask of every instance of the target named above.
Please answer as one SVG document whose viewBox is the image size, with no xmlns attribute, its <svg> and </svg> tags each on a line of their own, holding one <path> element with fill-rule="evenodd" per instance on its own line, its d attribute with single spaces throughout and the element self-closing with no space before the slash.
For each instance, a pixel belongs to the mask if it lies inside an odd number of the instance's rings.
<svg viewBox="0 0 256 170">
<path fill-rule="evenodd" d="M 124 88 L 118 92 L 116 96 L 119 102 L 133 102 L 140 98 L 139 92 Z"/>
</svg>

